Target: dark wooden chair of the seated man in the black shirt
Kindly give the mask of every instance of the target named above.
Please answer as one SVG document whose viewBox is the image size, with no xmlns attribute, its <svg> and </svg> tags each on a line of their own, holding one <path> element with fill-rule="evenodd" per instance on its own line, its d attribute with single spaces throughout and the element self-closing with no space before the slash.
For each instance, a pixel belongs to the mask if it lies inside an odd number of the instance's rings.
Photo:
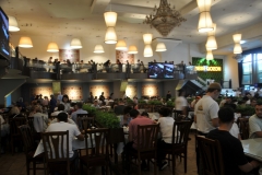
<svg viewBox="0 0 262 175">
<path fill-rule="evenodd" d="M 219 141 L 199 136 L 196 137 L 196 141 L 204 166 L 204 174 L 224 175 L 224 163 Z"/>
</svg>

